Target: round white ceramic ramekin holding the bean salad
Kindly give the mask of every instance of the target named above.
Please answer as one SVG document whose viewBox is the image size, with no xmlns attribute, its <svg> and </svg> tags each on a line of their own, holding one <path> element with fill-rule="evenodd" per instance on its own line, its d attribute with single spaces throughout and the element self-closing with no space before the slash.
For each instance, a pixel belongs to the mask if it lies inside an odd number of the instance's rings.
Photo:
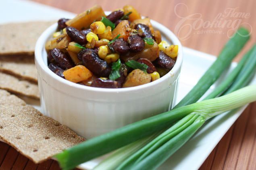
<svg viewBox="0 0 256 170">
<path fill-rule="evenodd" d="M 57 23 L 46 29 L 35 46 L 43 113 L 89 139 L 171 109 L 177 96 L 182 46 L 169 29 L 154 20 L 151 23 L 161 32 L 162 40 L 179 45 L 175 66 L 154 82 L 118 89 L 83 86 L 54 74 L 47 66 L 44 45 L 52 39 Z"/>
</svg>

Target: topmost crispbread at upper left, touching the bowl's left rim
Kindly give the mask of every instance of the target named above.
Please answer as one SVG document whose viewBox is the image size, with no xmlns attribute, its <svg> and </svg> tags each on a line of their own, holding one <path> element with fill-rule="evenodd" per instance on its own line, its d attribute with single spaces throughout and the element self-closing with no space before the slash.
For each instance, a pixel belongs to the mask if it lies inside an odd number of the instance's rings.
<svg viewBox="0 0 256 170">
<path fill-rule="evenodd" d="M 56 21 L 34 21 L 0 25 L 0 55 L 33 54 L 40 35 Z"/>
</svg>

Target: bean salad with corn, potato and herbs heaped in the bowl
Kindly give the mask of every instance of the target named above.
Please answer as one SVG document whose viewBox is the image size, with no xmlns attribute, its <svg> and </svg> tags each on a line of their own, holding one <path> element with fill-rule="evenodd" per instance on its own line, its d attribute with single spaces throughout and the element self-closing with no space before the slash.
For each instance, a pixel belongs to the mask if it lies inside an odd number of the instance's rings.
<svg viewBox="0 0 256 170">
<path fill-rule="evenodd" d="M 74 83 L 98 88 L 139 86 L 169 72 L 178 45 L 162 41 L 150 18 L 126 5 L 108 16 L 100 6 L 60 18 L 46 42 L 48 67 Z"/>
</svg>

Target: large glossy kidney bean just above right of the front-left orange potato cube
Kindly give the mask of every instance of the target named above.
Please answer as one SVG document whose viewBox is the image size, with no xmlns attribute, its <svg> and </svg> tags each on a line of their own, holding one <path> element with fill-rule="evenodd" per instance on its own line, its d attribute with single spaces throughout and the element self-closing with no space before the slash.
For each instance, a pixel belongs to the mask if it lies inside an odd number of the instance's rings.
<svg viewBox="0 0 256 170">
<path fill-rule="evenodd" d="M 81 53 L 81 52 L 80 52 Z M 98 77 L 108 77 L 110 67 L 106 61 L 103 61 L 92 50 L 81 53 L 83 65 Z"/>
</svg>

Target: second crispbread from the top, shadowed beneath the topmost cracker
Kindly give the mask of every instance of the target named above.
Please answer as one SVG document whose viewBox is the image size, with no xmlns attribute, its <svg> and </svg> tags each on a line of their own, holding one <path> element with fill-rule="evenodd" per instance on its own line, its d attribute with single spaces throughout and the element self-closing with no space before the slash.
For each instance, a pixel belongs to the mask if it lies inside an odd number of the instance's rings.
<svg viewBox="0 0 256 170">
<path fill-rule="evenodd" d="M 0 71 L 37 83 L 34 55 L 0 56 Z"/>
</svg>

